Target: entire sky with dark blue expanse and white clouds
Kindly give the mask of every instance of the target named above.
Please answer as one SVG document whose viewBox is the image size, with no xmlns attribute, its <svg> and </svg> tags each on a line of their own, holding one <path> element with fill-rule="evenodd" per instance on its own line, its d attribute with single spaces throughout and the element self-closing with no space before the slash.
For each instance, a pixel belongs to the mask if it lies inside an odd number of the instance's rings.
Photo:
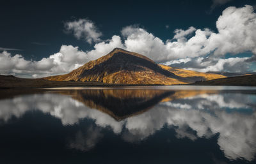
<svg viewBox="0 0 256 164">
<path fill-rule="evenodd" d="M 195 71 L 256 71 L 256 1 L 1 1 L 0 74 L 68 73 L 113 48 Z"/>
</svg>

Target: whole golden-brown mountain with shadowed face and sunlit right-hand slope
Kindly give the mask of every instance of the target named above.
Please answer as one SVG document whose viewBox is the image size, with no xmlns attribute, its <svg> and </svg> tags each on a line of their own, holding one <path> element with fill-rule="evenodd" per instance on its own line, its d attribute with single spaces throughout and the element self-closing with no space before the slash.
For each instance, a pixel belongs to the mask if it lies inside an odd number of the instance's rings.
<svg viewBox="0 0 256 164">
<path fill-rule="evenodd" d="M 199 73 L 157 64 L 148 57 L 121 48 L 90 61 L 65 75 L 45 77 L 55 81 L 103 82 L 105 84 L 188 84 L 223 78 L 223 75 Z"/>
</svg>

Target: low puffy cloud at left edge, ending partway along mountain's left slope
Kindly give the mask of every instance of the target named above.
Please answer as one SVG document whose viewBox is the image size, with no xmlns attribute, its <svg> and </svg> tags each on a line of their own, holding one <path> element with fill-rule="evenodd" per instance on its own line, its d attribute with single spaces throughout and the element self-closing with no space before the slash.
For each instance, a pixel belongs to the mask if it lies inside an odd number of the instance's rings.
<svg viewBox="0 0 256 164">
<path fill-rule="evenodd" d="M 81 66 L 83 63 L 79 59 L 86 59 L 84 54 L 78 50 L 78 47 L 63 45 L 60 52 L 56 54 L 40 61 L 28 61 L 19 54 L 11 56 L 10 53 L 4 51 L 0 53 L 0 61 L 4 62 L 0 69 L 2 74 L 15 73 L 15 75 L 33 75 L 33 77 L 64 73 Z"/>
</svg>

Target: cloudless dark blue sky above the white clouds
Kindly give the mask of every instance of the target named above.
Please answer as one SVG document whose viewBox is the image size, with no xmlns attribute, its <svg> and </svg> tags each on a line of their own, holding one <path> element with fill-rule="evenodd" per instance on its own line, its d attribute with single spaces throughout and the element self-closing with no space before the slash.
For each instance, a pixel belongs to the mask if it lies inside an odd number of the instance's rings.
<svg viewBox="0 0 256 164">
<path fill-rule="evenodd" d="M 1 1 L 0 47 L 22 49 L 26 59 L 42 59 L 61 45 L 91 50 L 86 41 L 64 33 L 64 23 L 90 19 L 102 32 L 102 40 L 137 24 L 154 36 L 167 40 L 173 30 L 208 27 L 216 31 L 216 20 L 227 6 L 255 5 L 252 0 L 234 0 L 211 11 L 212 1 Z M 166 29 L 166 25 L 169 26 Z"/>
</svg>

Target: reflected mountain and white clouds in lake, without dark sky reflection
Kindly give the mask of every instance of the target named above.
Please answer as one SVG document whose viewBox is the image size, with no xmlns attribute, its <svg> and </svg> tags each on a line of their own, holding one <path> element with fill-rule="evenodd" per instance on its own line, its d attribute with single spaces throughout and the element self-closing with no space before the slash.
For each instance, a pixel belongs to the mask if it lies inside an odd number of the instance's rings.
<svg viewBox="0 0 256 164">
<path fill-rule="evenodd" d="M 254 93 L 155 89 L 56 90 L 6 98 L 0 100 L 0 106 L 0 128 L 15 124 L 13 117 L 18 121 L 26 113 L 38 110 L 60 119 L 63 127 L 67 128 L 77 126 L 84 119 L 93 121 L 93 124 L 76 130 L 72 135 L 63 135 L 67 141 L 66 148 L 84 153 L 97 149 L 97 144 L 107 135 L 105 129 L 122 141 L 136 145 L 154 138 L 157 131 L 172 129 L 175 133 L 169 135 L 175 135 L 177 139 L 188 138 L 190 142 L 217 137 L 216 144 L 227 158 L 226 162 L 255 162 Z M 166 143 L 172 144 L 170 141 Z"/>
</svg>

